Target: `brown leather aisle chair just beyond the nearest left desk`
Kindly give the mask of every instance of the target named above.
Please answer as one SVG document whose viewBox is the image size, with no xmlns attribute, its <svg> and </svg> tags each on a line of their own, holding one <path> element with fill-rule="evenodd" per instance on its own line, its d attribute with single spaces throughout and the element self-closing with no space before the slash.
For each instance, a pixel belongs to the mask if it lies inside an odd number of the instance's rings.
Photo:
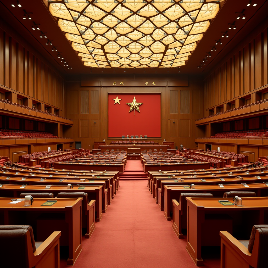
<svg viewBox="0 0 268 268">
<path fill-rule="evenodd" d="M 77 198 L 82 197 L 82 214 L 81 214 L 81 220 L 82 220 L 82 228 L 87 228 L 87 233 L 85 234 L 85 238 L 90 238 L 92 235 L 94 229 L 95 229 L 95 201 L 91 200 L 90 203 L 88 203 L 88 195 L 87 193 L 83 192 L 61 192 L 58 193 L 57 198 Z M 83 213 L 84 211 L 84 213 Z"/>
</svg>

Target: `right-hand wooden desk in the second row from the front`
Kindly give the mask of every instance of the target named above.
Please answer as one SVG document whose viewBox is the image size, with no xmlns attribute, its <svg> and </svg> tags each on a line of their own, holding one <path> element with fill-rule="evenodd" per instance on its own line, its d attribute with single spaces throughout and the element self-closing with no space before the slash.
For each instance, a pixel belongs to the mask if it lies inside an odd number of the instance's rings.
<svg viewBox="0 0 268 268">
<path fill-rule="evenodd" d="M 179 201 L 181 193 L 212 193 L 214 197 L 222 198 L 224 192 L 251 191 L 255 192 L 256 196 L 268 196 L 268 186 L 265 183 L 248 184 L 248 186 L 244 187 L 242 184 L 226 184 L 224 188 L 220 188 L 218 185 L 195 185 L 195 189 L 185 189 L 183 185 L 164 185 L 164 215 L 168 221 L 171 220 L 172 199 Z"/>
</svg>

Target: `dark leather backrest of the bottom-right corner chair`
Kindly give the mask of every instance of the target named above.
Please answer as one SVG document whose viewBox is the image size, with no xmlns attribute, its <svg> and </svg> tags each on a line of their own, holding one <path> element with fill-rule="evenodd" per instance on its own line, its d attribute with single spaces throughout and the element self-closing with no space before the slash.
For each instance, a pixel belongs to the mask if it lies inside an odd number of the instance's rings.
<svg viewBox="0 0 268 268">
<path fill-rule="evenodd" d="M 259 232 L 259 268 L 267 267 L 267 249 L 268 249 L 268 225 L 254 225 L 252 227 L 248 251 L 252 253 L 256 232 Z"/>
</svg>

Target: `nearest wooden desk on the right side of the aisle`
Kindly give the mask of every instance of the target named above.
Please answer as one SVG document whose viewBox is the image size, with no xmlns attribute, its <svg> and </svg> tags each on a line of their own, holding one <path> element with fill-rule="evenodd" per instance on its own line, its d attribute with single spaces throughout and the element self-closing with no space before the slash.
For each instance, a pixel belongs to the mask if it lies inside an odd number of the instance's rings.
<svg viewBox="0 0 268 268">
<path fill-rule="evenodd" d="M 249 239 L 253 225 L 267 224 L 265 215 L 268 211 L 268 197 L 242 198 L 243 207 L 223 206 L 218 200 L 232 198 L 186 198 L 187 200 L 187 245 L 186 250 L 197 266 L 203 265 L 201 246 L 220 245 L 220 221 L 214 219 L 215 214 L 227 214 L 233 220 L 233 233 L 240 239 Z M 215 217 L 216 218 L 216 217 Z M 212 219 L 212 220 L 209 220 Z M 213 221 L 213 226 L 208 226 Z M 212 228 L 211 228 L 212 227 Z M 228 231 L 230 226 L 221 226 L 220 231 Z M 209 231 L 209 229 L 211 230 Z M 245 234 L 247 236 L 245 237 Z M 216 239 L 216 241 L 215 241 Z M 219 244 L 218 244 L 219 243 Z"/>
</svg>

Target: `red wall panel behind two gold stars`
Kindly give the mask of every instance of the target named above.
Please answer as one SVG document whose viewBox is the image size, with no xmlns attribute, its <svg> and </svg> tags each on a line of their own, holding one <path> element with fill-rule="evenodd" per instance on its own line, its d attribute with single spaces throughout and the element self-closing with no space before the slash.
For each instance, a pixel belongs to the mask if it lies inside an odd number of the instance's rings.
<svg viewBox="0 0 268 268">
<path fill-rule="evenodd" d="M 118 96 L 120 105 L 114 104 Z M 143 103 L 139 106 L 140 113 L 132 110 L 131 103 Z M 108 137 L 121 137 L 122 135 L 147 135 L 148 137 L 161 137 L 161 95 L 160 94 L 109 94 L 108 96 Z"/>
</svg>

